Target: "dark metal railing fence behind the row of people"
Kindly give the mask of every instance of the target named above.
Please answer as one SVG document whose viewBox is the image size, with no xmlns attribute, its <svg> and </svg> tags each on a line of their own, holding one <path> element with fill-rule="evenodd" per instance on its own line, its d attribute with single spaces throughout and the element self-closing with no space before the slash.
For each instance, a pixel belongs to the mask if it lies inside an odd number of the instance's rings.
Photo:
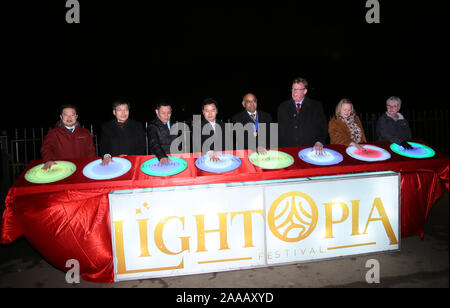
<svg viewBox="0 0 450 308">
<path fill-rule="evenodd" d="M 376 121 L 381 113 L 360 113 L 367 140 L 374 141 Z M 408 119 L 414 139 L 422 139 L 444 153 L 448 153 L 448 109 L 446 110 L 406 110 L 403 115 Z M 331 117 L 331 115 L 330 115 Z M 330 118 L 329 117 L 329 118 Z M 147 131 L 148 123 L 145 123 Z M 93 125 L 89 127 L 98 153 L 98 131 Z M 4 190 L 17 179 L 31 160 L 40 159 L 40 147 L 50 128 L 13 128 L 0 135 L 1 145 L 1 188 Z M 147 137 L 147 136 L 146 136 Z M 192 140 L 192 138 L 190 139 Z M 146 138 L 148 144 L 148 139 Z M 147 150 L 148 154 L 148 150 Z"/>
</svg>

